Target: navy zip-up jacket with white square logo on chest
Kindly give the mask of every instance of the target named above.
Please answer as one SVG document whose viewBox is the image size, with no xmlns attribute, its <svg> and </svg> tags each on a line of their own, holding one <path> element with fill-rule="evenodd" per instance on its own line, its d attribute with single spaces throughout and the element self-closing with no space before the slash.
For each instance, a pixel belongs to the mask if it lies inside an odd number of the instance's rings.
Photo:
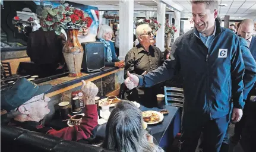
<svg viewBox="0 0 256 152">
<path fill-rule="evenodd" d="M 244 61 L 239 37 L 216 23 L 216 33 L 209 46 L 204 45 L 196 29 L 176 39 L 172 46 L 175 59 L 166 60 L 146 75 L 139 77 L 139 86 L 171 79 L 176 72 L 184 77 L 184 112 L 192 117 L 220 118 L 233 106 L 243 109 Z"/>
</svg>

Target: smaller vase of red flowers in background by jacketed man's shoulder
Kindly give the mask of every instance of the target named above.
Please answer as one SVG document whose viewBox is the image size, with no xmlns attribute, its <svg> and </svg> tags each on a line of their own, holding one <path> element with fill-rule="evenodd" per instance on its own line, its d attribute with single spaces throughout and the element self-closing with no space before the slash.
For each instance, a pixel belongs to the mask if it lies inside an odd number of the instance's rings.
<svg viewBox="0 0 256 152">
<path fill-rule="evenodd" d="M 168 20 L 166 20 L 165 23 L 165 47 L 170 46 L 170 42 L 172 38 L 174 37 L 174 33 L 176 32 L 176 27 L 175 26 L 170 26 L 168 23 Z"/>
</svg>

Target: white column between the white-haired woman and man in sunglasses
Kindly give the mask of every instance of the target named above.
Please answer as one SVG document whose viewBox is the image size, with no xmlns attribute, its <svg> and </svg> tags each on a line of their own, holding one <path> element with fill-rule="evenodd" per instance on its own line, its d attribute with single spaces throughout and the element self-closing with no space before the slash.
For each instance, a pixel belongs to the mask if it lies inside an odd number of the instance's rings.
<svg viewBox="0 0 256 152">
<path fill-rule="evenodd" d="M 133 47 L 134 1 L 119 0 L 119 59 Z"/>
</svg>

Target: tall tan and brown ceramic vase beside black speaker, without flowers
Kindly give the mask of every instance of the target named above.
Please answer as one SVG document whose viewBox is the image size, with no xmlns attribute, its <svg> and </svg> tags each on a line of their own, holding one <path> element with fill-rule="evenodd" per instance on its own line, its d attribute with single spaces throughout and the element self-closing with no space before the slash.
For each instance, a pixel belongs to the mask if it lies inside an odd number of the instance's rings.
<svg viewBox="0 0 256 152">
<path fill-rule="evenodd" d="M 81 77 L 84 50 L 77 39 L 78 29 L 67 30 L 67 43 L 62 49 L 69 70 L 69 77 Z"/>
</svg>

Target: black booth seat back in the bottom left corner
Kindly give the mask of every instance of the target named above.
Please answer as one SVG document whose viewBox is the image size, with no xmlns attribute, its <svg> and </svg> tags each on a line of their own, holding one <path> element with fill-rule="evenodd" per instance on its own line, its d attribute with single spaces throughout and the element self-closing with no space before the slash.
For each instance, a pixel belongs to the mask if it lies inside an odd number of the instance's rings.
<svg viewBox="0 0 256 152">
<path fill-rule="evenodd" d="M 1 151 L 5 152 L 113 152 L 102 147 L 66 141 L 62 138 L 1 124 Z"/>
</svg>

